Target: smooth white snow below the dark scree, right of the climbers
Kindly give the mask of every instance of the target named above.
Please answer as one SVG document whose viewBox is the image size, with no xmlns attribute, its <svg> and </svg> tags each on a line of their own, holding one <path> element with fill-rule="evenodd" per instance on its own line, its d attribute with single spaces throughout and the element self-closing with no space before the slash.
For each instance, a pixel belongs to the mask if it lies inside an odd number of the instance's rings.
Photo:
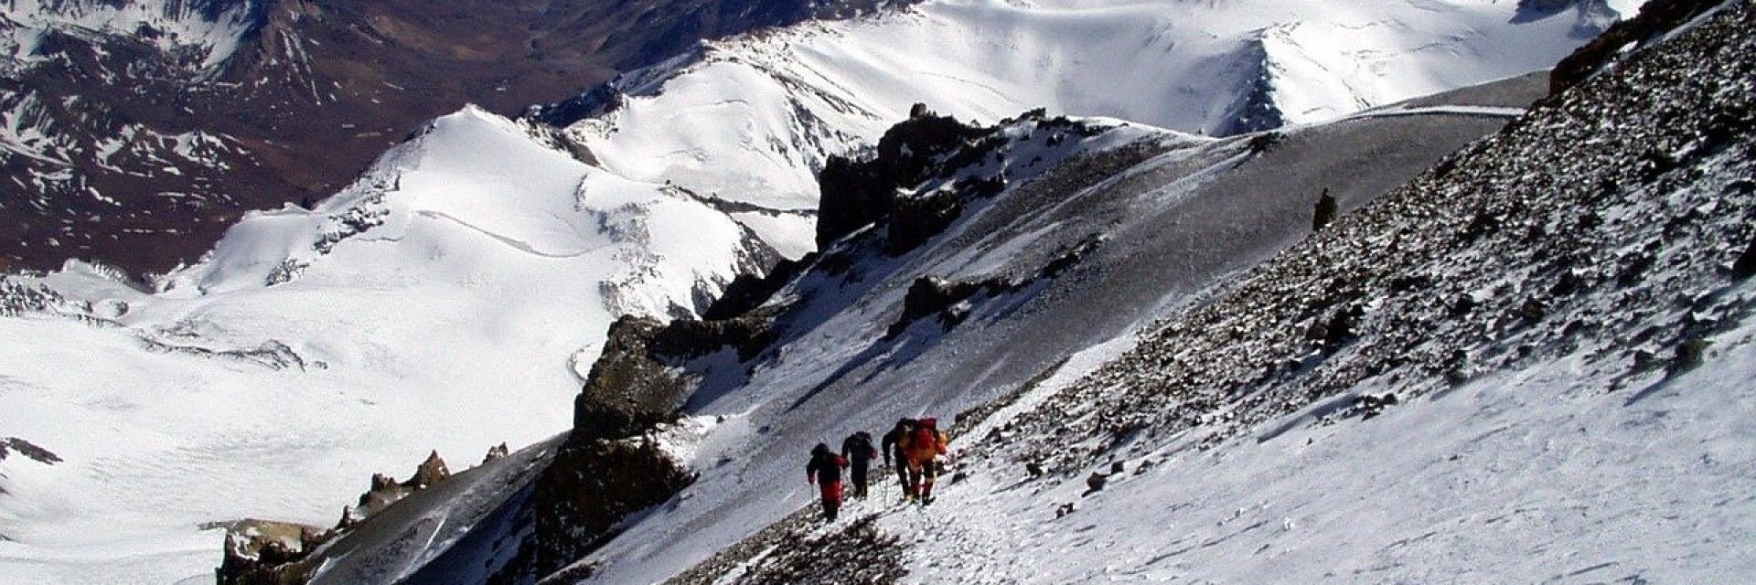
<svg viewBox="0 0 1756 585">
<path fill-rule="evenodd" d="M 1668 383 L 1612 390 L 1563 360 L 1366 422 L 1173 443 L 1090 495 L 1078 480 L 1108 467 L 983 466 L 880 527 L 911 541 L 911 583 L 1740 581 L 1756 557 L 1723 550 L 1756 525 L 1752 341 Z"/>
</svg>

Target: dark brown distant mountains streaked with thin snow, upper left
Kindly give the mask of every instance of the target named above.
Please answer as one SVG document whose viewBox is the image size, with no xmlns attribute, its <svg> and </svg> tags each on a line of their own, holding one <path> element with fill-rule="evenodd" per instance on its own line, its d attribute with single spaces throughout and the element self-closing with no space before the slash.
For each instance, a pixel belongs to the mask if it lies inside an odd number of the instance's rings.
<svg viewBox="0 0 1756 585">
<path fill-rule="evenodd" d="M 901 4 L 901 2 L 896 2 Z M 193 264 L 251 209 L 334 195 L 465 104 L 518 112 L 799 0 L 0 2 L 0 271 Z"/>
</svg>

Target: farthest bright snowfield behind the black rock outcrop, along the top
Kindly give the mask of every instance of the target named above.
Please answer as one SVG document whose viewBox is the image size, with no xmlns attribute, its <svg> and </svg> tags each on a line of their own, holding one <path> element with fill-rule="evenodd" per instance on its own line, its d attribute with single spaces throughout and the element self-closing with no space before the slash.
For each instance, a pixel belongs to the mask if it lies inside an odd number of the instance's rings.
<svg viewBox="0 0 1756 585">
<path fill-rule="evenodd" d="M 632 179 L 815 207 L 824 158 L 874 142 L 917 102 L 985 123 L 1047 107 L 1236 134 L 1547 69 L 1608 25 L 1517 4 L 924 2 L 706 44 L 613 83 L 615 109 L 569 135 Z M 810 248 L 790 239 L 804 218 L 750 220 L 790 255 Z"/>
</svg>

